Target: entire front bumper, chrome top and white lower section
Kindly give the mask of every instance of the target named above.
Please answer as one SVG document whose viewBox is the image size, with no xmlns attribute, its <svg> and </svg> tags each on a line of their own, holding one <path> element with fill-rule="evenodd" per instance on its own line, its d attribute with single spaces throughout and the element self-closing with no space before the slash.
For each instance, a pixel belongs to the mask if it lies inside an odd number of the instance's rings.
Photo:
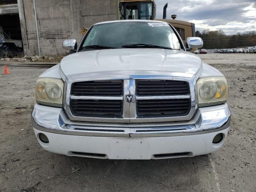
<svg viewBox="0 0 256 192">
<path fill-rule="evenodd" d="M 47 151 L 67 156 L 109 159 L 157 159 L 212 153 L 224 143 L 230 126 L 227 104 L 199 108 L 190 121 L 160 123 L 72 122 L 62 108 L 35 104 L 32 125 Z M 40 140 L 39 134 L 49 142 Z M 218 144 L 212 140 L 222 133 Z"/>
</svg>

